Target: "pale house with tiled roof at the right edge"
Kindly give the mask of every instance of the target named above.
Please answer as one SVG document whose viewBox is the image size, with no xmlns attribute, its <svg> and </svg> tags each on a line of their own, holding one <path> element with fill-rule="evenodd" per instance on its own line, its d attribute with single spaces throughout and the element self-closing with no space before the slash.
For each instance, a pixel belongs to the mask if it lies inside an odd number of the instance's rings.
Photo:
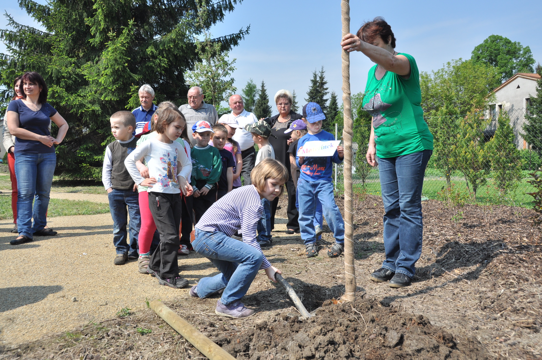
<svg viewBox="0 0 542 360">
<path fill-rule="evenodd" d="M 496 129 L 496 117 L 500 111 L 507 111 L 510 115 L 510 125 L 514 129 L 515 144 L 518 149 L 526 149 L 527 142 L 523 139 L 523 124 L 527 104 L 530 104 L 531 96 L 537 93 L 538 74 L 517 73 L 493 90 L 495 102 L 489 105 L 489 117 L 494 119 L 491 126 L 486 130 L 486 136 L 493 136 Z"/>
</svg>

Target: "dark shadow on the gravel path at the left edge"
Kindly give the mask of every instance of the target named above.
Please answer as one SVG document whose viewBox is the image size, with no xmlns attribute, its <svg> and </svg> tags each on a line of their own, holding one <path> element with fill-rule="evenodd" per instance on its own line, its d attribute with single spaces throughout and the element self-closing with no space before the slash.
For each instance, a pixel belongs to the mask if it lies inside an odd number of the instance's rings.
<svg viewBox="0 0 542 360">
<path fill-rule="evenodd" d="M 57 293 L 63 288 L 60 285 L 0 288 L 0 299 L 2 299 L 0 301 L 0 312 L 37 303 L 47 298 L 47 295 Z"/>
</svg>

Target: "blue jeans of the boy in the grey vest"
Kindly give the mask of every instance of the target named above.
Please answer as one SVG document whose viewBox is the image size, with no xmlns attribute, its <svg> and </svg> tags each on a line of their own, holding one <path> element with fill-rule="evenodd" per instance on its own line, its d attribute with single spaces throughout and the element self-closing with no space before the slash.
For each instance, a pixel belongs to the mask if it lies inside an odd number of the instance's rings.
<svg viewBox="0 0 542 360">
<path fill-rule="evenodd" d="M 138 235 L 141 228 L 141 214 L 139 213 L 139 195 L 137 191 L 118 190 L 107 194 L 109 210 L 113 218 L 113 245 L 117 254 L 138 255 Z M 126 210 L 127 208 L 127 210 Z M 126 226 L 130 214 L 130 246 L 127 243 L 128 234 Z"/>
</svg>

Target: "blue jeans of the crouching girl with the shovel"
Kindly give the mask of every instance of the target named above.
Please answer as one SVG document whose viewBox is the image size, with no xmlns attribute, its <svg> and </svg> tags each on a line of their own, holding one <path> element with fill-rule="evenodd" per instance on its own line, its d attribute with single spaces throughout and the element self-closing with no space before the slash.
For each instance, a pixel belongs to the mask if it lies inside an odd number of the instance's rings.
<svg viewBox="0 0 542 360">
<path fill-rule="evenodd" d="M 260 270 L 263 254 L 247 243 L 221 232 L 208 233 L 196 228 L 194 233 L 194 251 L 209 259 L 221 272 L 198 281 L 198 297 L 204 299 L 224 289 L 220 299 L 222 304 L 228 305 L 240 300 Z"/>
</svg>

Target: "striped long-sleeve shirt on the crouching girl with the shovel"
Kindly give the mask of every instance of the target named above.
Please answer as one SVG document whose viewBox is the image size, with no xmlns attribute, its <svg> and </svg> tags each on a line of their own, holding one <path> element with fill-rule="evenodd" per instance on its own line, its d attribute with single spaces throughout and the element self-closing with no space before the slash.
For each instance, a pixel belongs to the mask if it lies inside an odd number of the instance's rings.
<svg viewBox="0 0 542 360">
<path fill-rule="evenodd" d="M 247 185 L 228 192 L 205 211 L 196 224 L 204 232 L 220 231 L 228 236 L 241 229 L 243 242 L 262 251 L 256 241 L 257 224 L 263 213 L 262 200 L 254 185 Z M 261 269 L 267 269 L 271 263 L 263 256 Z"/>
</svg>

